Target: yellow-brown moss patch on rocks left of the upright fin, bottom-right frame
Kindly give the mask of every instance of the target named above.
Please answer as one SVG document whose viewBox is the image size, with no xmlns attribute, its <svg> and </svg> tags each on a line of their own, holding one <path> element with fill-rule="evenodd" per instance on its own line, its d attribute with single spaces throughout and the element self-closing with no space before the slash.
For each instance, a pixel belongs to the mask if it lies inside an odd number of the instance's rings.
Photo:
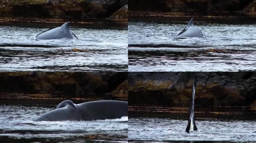
<svg viewBox="0 0 256 143">
<path fill-rule="evenodd" d="M 140 90 L 140 89 L 146 89 L 146 90 L 164 90 L 164 89 L 170 89 L 170 85 L 173 83 L 170 80 L 165 81 L 157 81 L 157 80 L 145 80 L 141 81 L 138 80 L 134 85 L 129 85 L 129 90 Z"/>
</svg>

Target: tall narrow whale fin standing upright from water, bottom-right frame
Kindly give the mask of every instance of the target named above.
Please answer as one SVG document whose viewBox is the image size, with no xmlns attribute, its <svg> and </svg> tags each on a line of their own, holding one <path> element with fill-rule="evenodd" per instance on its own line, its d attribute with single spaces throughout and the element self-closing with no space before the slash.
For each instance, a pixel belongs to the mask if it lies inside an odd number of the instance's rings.
<svg viewBox="0 0 256 143">
<path fill-rule="evenodd" d="M 189 133 L 189 131 L 196 131 L 196 125 L 195 125 L 195 119 L 194 119 L 194 102 L 195 102 L 195 88 L 196 88 L 196 77 L 195 75 L 195 81 L 193 85 L 193 90 L 192 90 L 192 99 L 191 99 L 191 105 L 189 109 L 189 119 L 188 119 L 188 125 L 186 128 L 186 132 Z"/>
</svg>

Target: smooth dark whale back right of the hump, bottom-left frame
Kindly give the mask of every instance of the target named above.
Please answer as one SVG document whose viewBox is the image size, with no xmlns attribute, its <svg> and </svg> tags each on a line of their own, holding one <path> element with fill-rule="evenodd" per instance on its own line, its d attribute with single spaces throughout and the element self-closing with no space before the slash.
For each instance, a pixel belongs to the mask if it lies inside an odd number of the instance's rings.
<svg viewBox="0 0 256 143">
<path fill-rule="evenodd" d="M 81 112 L 82 120 L 105 120 L 128 116 L 128 102 L 125 101 L 91 101 L 76 106 Z"/>
</svg>

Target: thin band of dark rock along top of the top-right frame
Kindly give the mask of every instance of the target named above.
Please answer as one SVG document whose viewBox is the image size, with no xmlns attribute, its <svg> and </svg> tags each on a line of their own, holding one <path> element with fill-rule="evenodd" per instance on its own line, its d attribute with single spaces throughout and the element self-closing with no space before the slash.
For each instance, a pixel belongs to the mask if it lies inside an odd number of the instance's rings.
<svg viewBox="0 0 256 143">
<path fill-rule="evenodd" d="M 129 0 L 129 6 L 133 11 L 255 13 L 255 0 Z"/>
</svg>

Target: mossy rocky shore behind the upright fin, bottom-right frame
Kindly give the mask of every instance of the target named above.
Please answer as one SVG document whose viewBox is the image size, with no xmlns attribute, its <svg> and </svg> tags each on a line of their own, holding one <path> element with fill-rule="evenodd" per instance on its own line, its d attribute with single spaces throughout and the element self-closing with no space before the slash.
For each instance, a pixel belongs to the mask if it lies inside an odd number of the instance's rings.
<svg viewBox="0 0 256 143">
<path fill-rule="evenodd" d="M 196 107 L 247 106 L 256 109 L 254 72 L 128 73 L 129 105 L 188 107 L 195 74 Z"/>
</svg>

